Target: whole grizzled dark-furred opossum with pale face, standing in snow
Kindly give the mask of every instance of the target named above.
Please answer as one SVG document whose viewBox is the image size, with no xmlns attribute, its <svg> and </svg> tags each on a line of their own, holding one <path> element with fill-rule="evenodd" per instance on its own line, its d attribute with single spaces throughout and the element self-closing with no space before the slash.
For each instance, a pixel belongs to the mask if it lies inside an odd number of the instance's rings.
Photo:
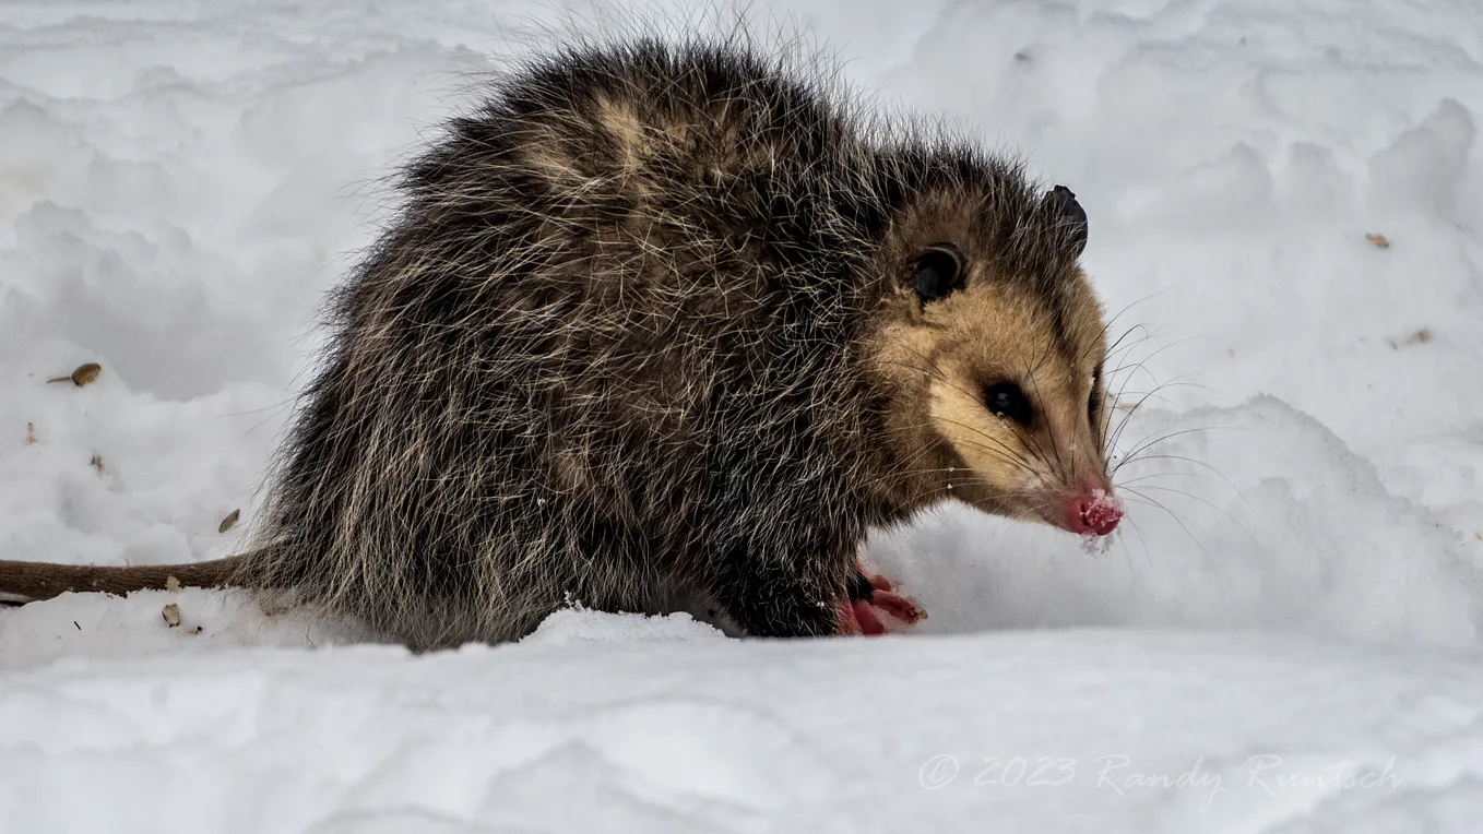
<svg viewBox="0 0 1483 834">
<path fill-rule="evenodd" d="M 572 43 L 492 83 L 334 292 L 257 539 L 0 591 L 289 591 L 415 647 L 698 594 L 878 631 L 872 529 L 957 499 L 1106 535 L 1102 307 L 1065 187 L 727 41 Z"/>
</svg>

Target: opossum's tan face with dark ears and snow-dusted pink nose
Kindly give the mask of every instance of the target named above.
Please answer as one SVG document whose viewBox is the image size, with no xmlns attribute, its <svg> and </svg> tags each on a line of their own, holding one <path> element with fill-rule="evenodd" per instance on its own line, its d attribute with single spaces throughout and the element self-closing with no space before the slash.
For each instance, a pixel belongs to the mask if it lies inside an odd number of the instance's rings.
<svg viewBox="0 0 1483 834">
<path fill-rule="evenodd" d="M 882 252 L 897 274 L 875 358 L 903 483 L 914 496 L 1108 535 L 1121 508 L 1105 459 L 1102 307 L 1077 265 L 1086 215 L 1057 188 L 1011 224 L 1044 224 L 1044 237 L 1007 253 L 976 204 L 924 200 Z"/>
</svg>

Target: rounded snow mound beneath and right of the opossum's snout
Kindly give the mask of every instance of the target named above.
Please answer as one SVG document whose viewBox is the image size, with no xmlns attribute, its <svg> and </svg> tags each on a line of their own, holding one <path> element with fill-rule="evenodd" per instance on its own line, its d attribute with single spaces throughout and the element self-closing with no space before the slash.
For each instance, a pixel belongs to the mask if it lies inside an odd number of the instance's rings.
<svg viewBox="0 0 1483 834">
<path fill-rule="evenodd" d="M 1129 517 L 1100 553 L 971 510 L 878 538 L 885 572 L 924 588 L 921 628 L 1231 627 L 1476 644 L 1476 551 L 1311 416 L 1258 397 L 1140 412 L 1136 425 L 1133 455 L 1115 464 Z"/>
</svg>

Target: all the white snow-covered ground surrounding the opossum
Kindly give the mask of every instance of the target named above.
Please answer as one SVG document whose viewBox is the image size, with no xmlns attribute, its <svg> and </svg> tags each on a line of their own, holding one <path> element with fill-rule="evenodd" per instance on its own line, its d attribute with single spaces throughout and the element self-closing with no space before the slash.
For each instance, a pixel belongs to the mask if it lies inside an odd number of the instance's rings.
<svg viewBox="0 0 1483 834">
<path fill-rule="evenodd" d="M 0 558 L 230 553 L 380 179 L 562 9 L 0 4 Z M 1118 541 L 934 514 L 871 544 L 931 612 L 878 640 L 0 610 L 0 831 L 1477 831 L 1483 7 L 752 13 L 1077 191 Z"/>
</svg>

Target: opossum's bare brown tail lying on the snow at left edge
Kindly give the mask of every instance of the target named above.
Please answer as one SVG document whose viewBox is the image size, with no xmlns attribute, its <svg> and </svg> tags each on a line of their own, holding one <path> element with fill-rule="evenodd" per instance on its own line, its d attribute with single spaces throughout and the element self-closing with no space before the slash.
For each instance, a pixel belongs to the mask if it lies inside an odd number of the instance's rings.
<svg viewBox="0 0 1483 834">
<path fill-rule="evenodd" d="M 215 588 L 225 585 L 245 557 L 228 556 L 212 561 L 184 564 L 147 564 L 138 567 L 99 567 L 96 564 L 55 564 L 50 561 L 0 561 L 0 594 L 27 600 L 49 600 L 67 591 L 128 594 L 163 590 L 174 576 L 181 587 Z"/>
</svg>

